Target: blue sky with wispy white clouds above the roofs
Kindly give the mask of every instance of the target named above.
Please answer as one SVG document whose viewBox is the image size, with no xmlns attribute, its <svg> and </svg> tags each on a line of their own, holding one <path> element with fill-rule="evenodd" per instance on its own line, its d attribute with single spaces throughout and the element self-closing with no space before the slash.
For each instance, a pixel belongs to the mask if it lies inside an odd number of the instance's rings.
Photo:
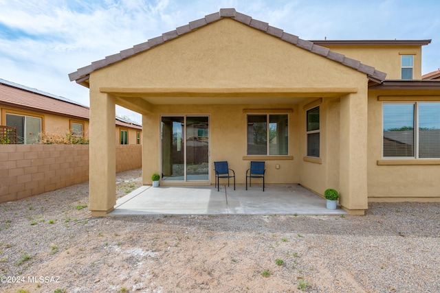
<svg viewBox="0 0 440 293">
<path fill-rule="evenodd" d="M 89 106 L 69 73 L 220 8 L 305 40 L 432 39 L 422 74 L 440 67 L 438 0 L 0 0 L 0 78 Z"/>
</svg>

